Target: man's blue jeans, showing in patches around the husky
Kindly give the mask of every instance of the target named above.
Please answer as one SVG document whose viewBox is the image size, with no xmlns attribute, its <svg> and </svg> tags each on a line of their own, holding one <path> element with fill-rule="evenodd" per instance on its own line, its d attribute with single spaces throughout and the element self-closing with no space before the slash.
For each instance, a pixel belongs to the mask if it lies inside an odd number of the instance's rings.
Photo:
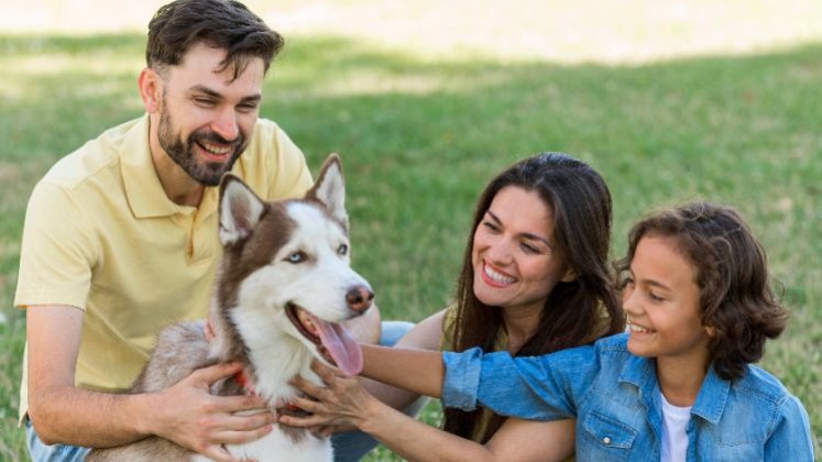
<svg viewBox="0 0 822 462">
<path fill-rule="evenodd" d="M 405 333 L 413 327 L 413 322 L 382 322 L 380 345 L 393 346 L 397 340 L 405 336 Z M 419 409 L 425 406 L 426 402 L 426 398 L 417 399 L 403 411 L 408 416 L 414 417 L 417 415 Z M 81 462 L 86 458 L 86 454 L 88 454 L 88 451 L 90 451 L 88 448 L 69 444 L 44 444 L 43 441 L 37 438 L 37 433 L 34 431 L 34 427 L 32 427 L 29 419 L 25 419 L 25 436 L 26 443 L 29 444 L 29 453 L 34 462 Z M 377 441 L 362 431 L 350 431 L 333 435 L 331 437 L 331 444 L 333 444 L 335 461 L 349 462 L 359 461 L 363 455 L 376 447 Z"/>
</svg>

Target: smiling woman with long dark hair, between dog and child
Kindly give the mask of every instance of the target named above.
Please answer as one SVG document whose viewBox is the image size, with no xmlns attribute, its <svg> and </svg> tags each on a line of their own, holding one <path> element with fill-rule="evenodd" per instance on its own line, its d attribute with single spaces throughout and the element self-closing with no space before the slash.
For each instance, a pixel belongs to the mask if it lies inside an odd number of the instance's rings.
<svg viewBox="0 0 822 462">
<path fill-rule="evenodd" d="M 622 331 L 624 317 L 607 268 L 610 235 L 611 195 L 591 167 L 559 153 L 513 165 L 480 196 L 456 305 L 421 321 L 396 346 L 446 351 L 479 346 L 529 356 Z M 413 460 L 443 460 L 456 448 L 445 441 L 458 441 L 454 436 L 485 444 L 491 459 L 502 451 L 506 460 L 514 460 L 515 450 L 520 459 L 565 459 L 573 450 L 571 420 L 526 422 L 482 408 L 446 409 L 443 432 L 393 409 L 417 395 L 376 383 L 366 384 L 369 394 L 357 381 L 316 367 L 328 378 L 329 388 L 305 381 L 295 384 L 317 399 L 295 403 L 313 416 L 282 416 L 282 424 L 353 426 Z M 443 442 L 421 446 L 417 431 L 437 432 Z M 538 438 L 527 444 L 518 440 L 531 435 Z M 464 453 L 456 454 L 464 460 Z"/>
</svg>

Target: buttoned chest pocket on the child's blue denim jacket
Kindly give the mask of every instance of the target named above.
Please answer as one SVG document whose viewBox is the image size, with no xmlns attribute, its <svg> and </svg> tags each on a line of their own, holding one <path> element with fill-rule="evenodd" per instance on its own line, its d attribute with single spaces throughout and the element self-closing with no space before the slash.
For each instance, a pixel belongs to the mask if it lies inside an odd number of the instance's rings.
<svg viewBox="0 0 822 462">
<path fill-rule="evenodd" d="M 577 446 L 577 459 L 581 461 L 626 460 L 637 435 L 636 429 L 595 410 L 583 418 L 582 428 Z"/>
</svg>

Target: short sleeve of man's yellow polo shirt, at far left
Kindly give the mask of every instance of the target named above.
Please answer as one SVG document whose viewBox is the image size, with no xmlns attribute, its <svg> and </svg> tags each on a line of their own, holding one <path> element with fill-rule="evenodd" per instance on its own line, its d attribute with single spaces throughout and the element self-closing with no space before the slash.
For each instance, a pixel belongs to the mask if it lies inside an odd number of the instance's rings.
<svg viewBox="0 0 822 462">
<path fill-rule="evenodd" d="M 40 183 L 25 213 L 14 305 L 85 309 L 97 243 L 90 220 L 70 194 Z"/>
</svg>

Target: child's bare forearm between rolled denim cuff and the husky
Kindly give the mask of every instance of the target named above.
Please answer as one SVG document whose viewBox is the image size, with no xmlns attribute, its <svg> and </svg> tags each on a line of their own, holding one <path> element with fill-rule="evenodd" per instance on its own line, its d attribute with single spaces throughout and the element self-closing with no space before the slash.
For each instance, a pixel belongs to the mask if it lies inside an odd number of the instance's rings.
<svg viewBox="0 0 822 462">
<path fill-rule="evenodd" d="M 362 375 L 375 381 L 439 398 L 442 394 L 442 353 L 360 345 L 363 355 Z"/>
</svg>

